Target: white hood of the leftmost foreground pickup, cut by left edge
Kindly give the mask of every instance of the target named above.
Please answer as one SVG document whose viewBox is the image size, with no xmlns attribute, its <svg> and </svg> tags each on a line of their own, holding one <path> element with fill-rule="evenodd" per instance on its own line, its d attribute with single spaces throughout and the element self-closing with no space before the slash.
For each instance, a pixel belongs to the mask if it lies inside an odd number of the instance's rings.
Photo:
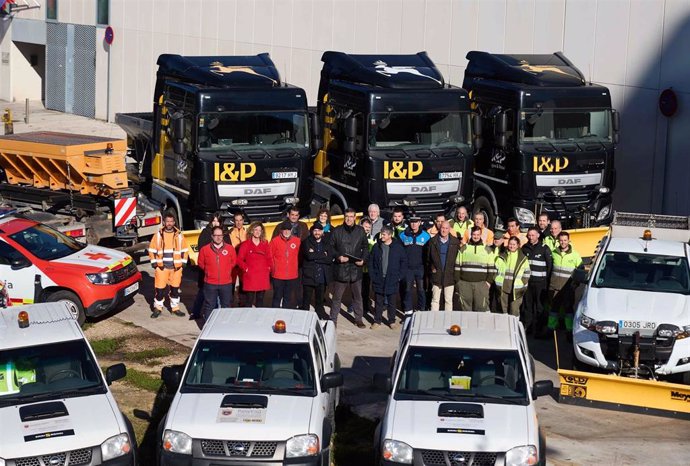
<svg viewBox="0 0 690 466">
<path fill-rule="evenodd" d="M 20 408 L 51 402 L 64 403 L 69 414 L 22 422 Z M 0 458 L 24 458 L 95 447 L 121 432 L 105 394 L 7 406 L 0 409 Z M 44 437 L 47 433 L 51 434 L 50 438 L 25 439 Z"/>
</svg>

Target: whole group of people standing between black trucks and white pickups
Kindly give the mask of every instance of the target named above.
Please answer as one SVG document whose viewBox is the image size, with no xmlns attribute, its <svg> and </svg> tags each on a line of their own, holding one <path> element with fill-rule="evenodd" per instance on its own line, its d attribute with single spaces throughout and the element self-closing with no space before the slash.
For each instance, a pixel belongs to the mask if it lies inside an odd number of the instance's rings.
<svg viewBox="0 0 690 466">
<path fill-rule="evenodd" d="M 385 221 L 376 204 L 359 222 L 355 211 L 347 209 L 337 227 L 322 209 L 308 227 L 294 208 L 270 239 L 260 222 L 245 228 L 242 212 L 233 215 L 229 230 L 222 221 L 216 213 L 199 236 L 199 293 L 190 319 L 205 320 L 213 309 L 233 306 L 239 283 L 240 306 L 264 306 L 265 293 L 272 289 L 272 307 L 308 310 L 313 303 L 322 318 L 336 323 L 349 290 L 359 328 L 366 326 L 364 315 L 372 311 L 373 301 L 372 329 L 384 324 L 395 328 L 397 309 L 404 314 L 441 307 L 510 313 L 536 336 L 557 328 L 561 320 L 572 329 L 571 276 L 582 259 L 560 221 L 546 214 L 526 234 L 513 218 L 506 231 L 492 231 L 482 212 L 470 218 L 465 207 L 450 219 L 437 214 L 428 228 L 414 213 L 406 219 L 402 208 Z M 151 317 L 161 314 L 166 289 L 171 312 L 184 316 L 179 286 L 187 252 L 174 217 L 166 216 L 149 249 L 156 268 Z"/>
</svg>

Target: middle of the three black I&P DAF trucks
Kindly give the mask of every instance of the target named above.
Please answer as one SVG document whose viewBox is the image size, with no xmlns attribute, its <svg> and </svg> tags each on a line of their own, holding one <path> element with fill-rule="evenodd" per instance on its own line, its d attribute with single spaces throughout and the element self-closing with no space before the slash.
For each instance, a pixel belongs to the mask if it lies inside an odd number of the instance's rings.
<svg viewBox="0 0 690 466">
<path fill-rule="evenodd" d="M 315 202 L 333 213 L 377 203 L 418 214 L 471 203 L 469 97 L 444 82 L 426 53 L 325 52 L 318 91 L 323 149 Z"/>
</svg>

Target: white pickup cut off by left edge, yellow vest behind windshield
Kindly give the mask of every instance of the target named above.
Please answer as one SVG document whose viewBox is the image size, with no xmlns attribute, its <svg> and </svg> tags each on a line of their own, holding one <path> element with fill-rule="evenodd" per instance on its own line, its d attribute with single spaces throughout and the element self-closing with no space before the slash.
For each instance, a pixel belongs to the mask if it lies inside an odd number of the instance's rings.
<svg viewBox="0 0 690 466">
<path fill-rule="evenodd" d="M 66 303 L 0 310 L 0 466 L 131 466 L 135 438 Z"/>
</svg>

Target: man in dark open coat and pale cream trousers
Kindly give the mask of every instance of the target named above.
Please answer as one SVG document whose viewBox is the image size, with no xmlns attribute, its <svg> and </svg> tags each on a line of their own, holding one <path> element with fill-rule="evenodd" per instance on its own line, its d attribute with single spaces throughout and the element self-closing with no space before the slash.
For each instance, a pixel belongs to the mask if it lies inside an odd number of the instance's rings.
<svg viewBox="0 0 690 466">
<path fill-rule="evenodd" d="M 438 227 L 438 234 L 431 238 L 427 246 L 427 274 L 431 280 L 431 310 L 438 311 L 441 307 L 443 294 L 443 310 L 453 310 L 453 291 L 455 290 L 455 259 L 458 257 L 460 240 L 450 234 L 450 222 L 443 221 Z"/>
</svg>

